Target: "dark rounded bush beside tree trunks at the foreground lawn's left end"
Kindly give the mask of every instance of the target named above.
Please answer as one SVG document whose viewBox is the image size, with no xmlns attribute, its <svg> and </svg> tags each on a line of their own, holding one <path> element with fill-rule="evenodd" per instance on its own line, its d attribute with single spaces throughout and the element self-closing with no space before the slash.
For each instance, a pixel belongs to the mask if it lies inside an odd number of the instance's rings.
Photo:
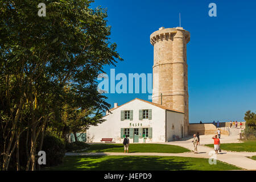
<svg viewBox="0 0 256 182">
<path fill-rule="evenodd" d="M 56 166 L 63 162 L 65 155 L 65 143 L 63 139 L 47 133 L 44 137 L 42 150 L 46 152 L 46 165 L 42 165 L 42 167 Z"/>
</svg>

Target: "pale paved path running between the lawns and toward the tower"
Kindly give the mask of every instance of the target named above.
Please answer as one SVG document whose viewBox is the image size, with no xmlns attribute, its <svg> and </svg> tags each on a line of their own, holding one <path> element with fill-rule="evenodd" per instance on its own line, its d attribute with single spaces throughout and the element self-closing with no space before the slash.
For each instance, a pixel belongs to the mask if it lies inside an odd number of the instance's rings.
<svg viewBox="0 0 256 182">
<path fill-rule="evenodd" d="M 144 153 L 144 152 L 135 152 L 129 154 L 123 154 L 123 152 L 97 152 L 97 153 L 88 153 L 88 152 L 79 152 L 72 153 L 67 152 L 65 155 L 69 156 L 83 156 L 83 155 L 127 155 L 127 156 L 136 156 L 136 155 L 146 155 L 146 156 L 181 156 L 189 158 L 210 158 L 212 155 L 209 155 L 209 152 L 213 151 L 213 148 L 203 146 L 202 144 L 212 144 L 213 139 L 212 135 L 202 135 L 200 136 L 200 146 L 197 147 L 199 154 L 193 154 L 193 152 L 184 152 L 184 153 Z M 189 150 L 193 150 L 192 138 L 187 138 L 181 141 L 167 142 L 162 144 L 172 144 Z M 225 136 L 221 137 L 221 143 L 241 143 L 240 140 L 237 140 L 237 136 Z M 214 154 L 214 153 L 212 153 Z M 256 155 L 256 152 L 230 152 L 224 151 L 218 155 L 215 155 L 217 160 L 220 160 L 225 163 L 233 164 L 234 166 L 241 167 L 247 170 L 256 170 L 256 160 L 249 159 L 247 157 Z"/>
</svg>

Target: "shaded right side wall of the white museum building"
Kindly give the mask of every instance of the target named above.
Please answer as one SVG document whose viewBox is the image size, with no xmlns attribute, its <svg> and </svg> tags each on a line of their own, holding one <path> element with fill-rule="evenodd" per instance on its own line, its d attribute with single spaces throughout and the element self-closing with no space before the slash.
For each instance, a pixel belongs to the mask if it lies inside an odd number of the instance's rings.
<svg viewBox="0 0 256 182">
<path fill-rule="evenodd" d="M 172 124 L 174 124 L 174 129 L 172 129 Z M 173 111 L 167 110 L 167 141 L 172 141 L 173 135 L 179 136 L 181 138 L 181 126 L 183 126 L 184 133 L 184 114 L 175 113 Z"/>
</svg>

